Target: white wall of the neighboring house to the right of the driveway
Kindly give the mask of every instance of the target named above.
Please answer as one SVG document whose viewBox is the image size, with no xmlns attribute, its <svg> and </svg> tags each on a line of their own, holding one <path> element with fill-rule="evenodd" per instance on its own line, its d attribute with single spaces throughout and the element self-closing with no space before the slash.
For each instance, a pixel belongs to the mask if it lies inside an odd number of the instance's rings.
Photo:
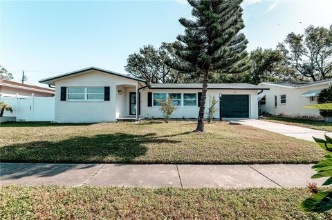
<svg viewBox="0 0 332 220">
<path fill-rule="evenodd" d="M 316 102 L 310 102 L 309 98 L 300 97 L 300 95 L 308 90 L 328 88 L 329 84 L 326 83 L 325 85 L 310 86 L 305 88 L 285 88 L 281 86 L 271 86 L 264 83 L 260 86 L 270 88 L 270 90 L 264 90 L 264 94 L 266 95 L 266 106 L 261 106 L 262 111 L 274 115 L 284 114 L 289 117 L 320 117 L 319 110 L 302 108 L 302 106 L 310 105 Z M 286 104 L 280 103 L 280 95 L 282 94 L 286 94 Z M 275 95 L 277 95 L 277 108 L 275 108 Z"/>
</svg>

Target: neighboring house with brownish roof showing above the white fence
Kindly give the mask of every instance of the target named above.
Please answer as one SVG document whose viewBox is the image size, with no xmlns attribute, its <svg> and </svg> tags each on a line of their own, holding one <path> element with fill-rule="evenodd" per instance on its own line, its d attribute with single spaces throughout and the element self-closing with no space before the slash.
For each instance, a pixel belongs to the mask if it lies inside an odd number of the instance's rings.
<svg viewBox="0 0 332 220">
<path fill-rule="evenodd" d="M 0 96 L 1 97 L 15 97 L 16 94 L 19 97 L 31 97 L 34 94 L 35 97 L 53 97 L 55 90 L 44 88 L 41 86 L 33 86 L 24 83 L 17 83 L 6 79 L 0 79 Z"/>
</svg>

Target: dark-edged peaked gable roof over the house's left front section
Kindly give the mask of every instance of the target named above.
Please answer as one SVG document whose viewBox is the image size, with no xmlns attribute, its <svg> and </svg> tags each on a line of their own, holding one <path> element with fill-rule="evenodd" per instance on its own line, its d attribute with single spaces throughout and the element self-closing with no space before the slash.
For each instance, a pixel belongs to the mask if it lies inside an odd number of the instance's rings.
<svg viewBox="0 0 332 220">
<path fill-rule="evenodd" d="M 42 79 L 42 80 L 39 80 L 39 83 L 46 83 L 46 84 L 52 84 L 55 80 L 57 79 L 62 79 L 62 78 L 65 78 L 65 77 L 71 77 L 75 74 L 80 74 L 82 72 L 88 72 L 88 71 L 91 71 L 91 70 L 96 70 L 96 71 L 99 71 L 99 72 L 104 72 L 104 73 L 107 73 L 107 74 L 113 74 L 113 75 L 116 75 L 118 77 L 124 77 L 124 78 L 127 78 L 127 79 L 133 79 L 133 80 L 136 80 L 136 81 L 141 81 L 141 82 L 144 82 L 144 83 L 147 83 L 147 81 L 145 79 L 140 79 L 140 78 L 136 78 L 136 77 L 130 77 L 126 74 L 121 74 L 121 73 L 118 73 L 118 72 L 113 72 L 111 70 L 104 70 L 104 69 L 101 69 L 101 68 L 96 68 L 96 67 L 89 67 L 89 68 L 84 68 L 82 70 L 76 70 L 76 71 L 73 71 L 73 72 L 68 72 L 68 73 L 65 73 L 65 74 L 60 74 L 60 75 L 57 75 L 55 77 L 49 77 L 49 78 L 46 78 L 46 79 Z"/>
</svg>

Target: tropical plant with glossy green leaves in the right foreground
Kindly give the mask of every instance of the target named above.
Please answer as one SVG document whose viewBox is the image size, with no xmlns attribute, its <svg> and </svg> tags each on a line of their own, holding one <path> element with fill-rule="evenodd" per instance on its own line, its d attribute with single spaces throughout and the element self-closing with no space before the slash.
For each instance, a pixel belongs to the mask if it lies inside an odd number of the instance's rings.
<svg viewBox="0 0 332 220">
<path fill-rule="evenodd" d="M 324 159 L 315 164 L 312 168 L 317 172 L 311 177 L 312 179 L 329 177 L 322 185 L 328 186 L 332 183 L 332 138 L 326 136 L 325 139 L 313 139 L 318 145 L 327 153 Z M 301 207 L 306 212 L 326 212 L 332 209 L 332 189 L 331 188 L 317 188 L 315 183 L 311 183 L 309 188 L 312 192 L 311 197 L 308 197 L 301 203 Z"/>
</svg>

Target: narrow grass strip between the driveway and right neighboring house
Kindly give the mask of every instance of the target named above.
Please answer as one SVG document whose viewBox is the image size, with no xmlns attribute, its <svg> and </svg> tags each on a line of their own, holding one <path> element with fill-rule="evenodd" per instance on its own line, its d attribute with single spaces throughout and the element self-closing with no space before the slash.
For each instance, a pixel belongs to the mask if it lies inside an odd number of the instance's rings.
<svg viewBox="0 0 332 220">
<path fill-rule="evenodd" d="M 264 120 L 277 122 L 277 123 L 284 123 L 290 126 L 299 126 L 303 128 L 312 128 L 312 129 L 332 132 L 332 122 L 327 122 L 327 121 L 315 121 L 310 119 L 291 119 L 284 117 L 264 117 Z"/>
</svg>

